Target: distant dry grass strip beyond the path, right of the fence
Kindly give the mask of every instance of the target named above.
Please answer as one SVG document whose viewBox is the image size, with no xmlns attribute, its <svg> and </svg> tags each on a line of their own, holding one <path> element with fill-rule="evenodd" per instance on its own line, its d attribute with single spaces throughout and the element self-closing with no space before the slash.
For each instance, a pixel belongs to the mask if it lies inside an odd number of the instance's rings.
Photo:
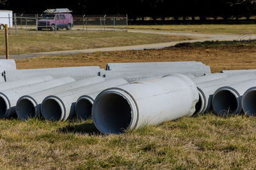
<svg viewBox="0 0 256 170">
<path fill-rule="evenodd" d="M 255 24 L 129 25 L 129 29 L 201 32 L 201 33 L 214 33 L 214 34 L 256 34 Z"/>
</svg>

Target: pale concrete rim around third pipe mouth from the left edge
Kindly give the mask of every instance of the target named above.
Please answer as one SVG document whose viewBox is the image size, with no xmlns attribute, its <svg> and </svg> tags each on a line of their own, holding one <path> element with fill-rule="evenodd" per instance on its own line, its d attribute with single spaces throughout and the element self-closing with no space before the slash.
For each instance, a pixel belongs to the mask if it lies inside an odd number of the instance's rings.
<svg viewBox="0 0 256 170">
<path fill-rule="evenodd" d="M 43 110 L 44 110 L 44 103 L 45 103 L 45 101 L 47 101 L 47 100 L 54 100 L 54 101 L 56 101 L 56 103 L 58 103 L 58 105 L 60 106 L 60 109 L 61 109 L 61 116 L 60 116 L 60 119 L 59 119 L 59 120 L 64 120 L 65 117 L 66 117 L 65 104 L 64 104 L 63 101 L 62 101 L 59 97 L 57 97 L 57 96 L 47 96 L 47 97 L 45 97 L 44 101 L 42 101 L 41 108 L 40 108 L 42 116 L 43 116 L 46 120 L 48 120 L 48 119 L 45 117 L 45 113 L 43 112 Z"/>
</svg>

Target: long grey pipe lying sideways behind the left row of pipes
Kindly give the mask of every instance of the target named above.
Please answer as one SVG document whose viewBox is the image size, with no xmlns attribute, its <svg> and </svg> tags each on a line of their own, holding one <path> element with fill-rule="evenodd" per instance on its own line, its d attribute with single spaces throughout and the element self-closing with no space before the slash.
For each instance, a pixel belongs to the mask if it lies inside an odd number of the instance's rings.
<svg viewBox="0 0 256 170">
<path fill-rule="evenodd" d="M 19 69 L 13 71 L 5 71 L 3 79 L 6 81 L 19 80 L 23 78 L 30 78 L 33 76 L 50 75 L 53 78 L 60 78 L 63 76 L 70 76 L 74 79 L 86 78 L 89 76 L 98 76 L 99 66 L 86 67 L 58 67 L 49 69 Z"/>
</svg>

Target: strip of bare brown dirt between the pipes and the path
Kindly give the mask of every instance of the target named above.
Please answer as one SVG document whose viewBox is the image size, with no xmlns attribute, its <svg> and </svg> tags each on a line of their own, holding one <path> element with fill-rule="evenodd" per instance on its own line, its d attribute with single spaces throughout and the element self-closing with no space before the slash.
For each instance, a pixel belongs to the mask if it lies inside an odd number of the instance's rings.
<svg viewBox="0 0 256 170">
<path fill-rule="evenodd" d="M 170 47 L 159 50 L 80 53 L 56 57 L 17 59 L 19 69 L 42 67 L 100 66 L 108 62 L 162 62 L 196 60 L 211 66 L 212 73 L 223 69 L 256 69 L 256 46 Z"/>
</svg>

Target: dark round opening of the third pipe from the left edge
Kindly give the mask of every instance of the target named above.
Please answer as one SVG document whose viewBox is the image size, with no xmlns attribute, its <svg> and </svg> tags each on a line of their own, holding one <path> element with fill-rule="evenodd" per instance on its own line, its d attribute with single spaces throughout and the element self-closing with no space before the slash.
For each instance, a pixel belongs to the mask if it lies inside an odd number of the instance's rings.
<svg viewBox="0 0 256 170">
<path fill-rule="evenodd" d="M 47 120 L 57 121 L 61 119 L 61 106 L 55 99 L 46 99 L 42 103 L 42 115 Z"/>
</svg>

